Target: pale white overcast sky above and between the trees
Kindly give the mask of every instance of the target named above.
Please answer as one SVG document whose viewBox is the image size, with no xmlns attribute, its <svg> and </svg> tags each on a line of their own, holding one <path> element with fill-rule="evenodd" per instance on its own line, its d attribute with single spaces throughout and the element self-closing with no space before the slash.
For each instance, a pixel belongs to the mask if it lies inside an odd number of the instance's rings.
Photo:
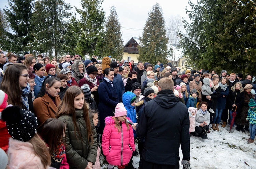
<svg viewBox="0 0 256 169">
<path fill-rule="evenodd" d="M 75 12 L 74 6 L 81 8 L 80 0 L 65 0 L 73 7 L 71 12 Z M 189 20 L 185 12 L 185 7 L 188 5 L 188 0 L 168 1 L 168 0 L 138 0 L 138 1 L 124 1 L 124 0 L 105 0 L 102 7 L 106 13 L 106 18 L 110 13 L 111 6 L 116 7 L 119 17 L 119 22 L 122 26 L 123 41 L 126 44 L 131 37 L 141 36 L 142 29 L 148 18 L 148 12 L 152 7 L 159 3 L 162 7 L 163 15 L 166 19 L 166 25 L 171 16 L 180 16 Z M 9 7 L 7 0 L 1 0 L 1 8 Z"/>
</svg>

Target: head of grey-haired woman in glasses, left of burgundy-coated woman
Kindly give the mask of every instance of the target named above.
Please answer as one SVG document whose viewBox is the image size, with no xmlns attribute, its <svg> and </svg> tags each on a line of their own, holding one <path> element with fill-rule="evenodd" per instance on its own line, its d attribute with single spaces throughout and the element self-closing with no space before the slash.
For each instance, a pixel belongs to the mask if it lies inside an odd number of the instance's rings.
<svg viewBox="0 0 256 169">
<path fill-rule="evenodd" d="M 75 60 L 71 65 L 71 70 L 73 71 L 72 77 L 75 78 L 76 83 L 79 84 L 79 81 L 83 79 L 86 73 L 84 62 L 82 60 Z"/>
</svg>

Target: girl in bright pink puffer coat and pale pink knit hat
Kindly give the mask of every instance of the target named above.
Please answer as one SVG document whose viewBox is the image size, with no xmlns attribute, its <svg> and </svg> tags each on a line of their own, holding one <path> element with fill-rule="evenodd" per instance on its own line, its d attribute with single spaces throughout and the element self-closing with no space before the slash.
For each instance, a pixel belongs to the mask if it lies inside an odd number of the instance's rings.
<svg viewBox="0 0 256 169">
<path fill-rule="evenodd" d="M 129 163 L 132 152 L 135 150 L 133 130 L 126 122 L 127 110 L 123 103 L 118 103 L 115 116 L 106 117 L 102 134 L 102 151 L 109 163 L 108 169 L 118 166 L 122 169 Z M 129 119 L 130 120 L 130 119 Z"/>
</svg>

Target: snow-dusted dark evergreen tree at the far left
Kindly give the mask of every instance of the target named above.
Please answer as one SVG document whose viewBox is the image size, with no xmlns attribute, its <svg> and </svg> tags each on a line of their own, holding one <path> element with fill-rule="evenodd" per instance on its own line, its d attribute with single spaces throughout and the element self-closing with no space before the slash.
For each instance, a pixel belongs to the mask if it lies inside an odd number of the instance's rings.
<svg viewBox="0 0 256 169">
<path fill-rule="evenodd" d="M 10 9 L 4 9 L 6 19 L 10 24 L 11 32 L 7 32 L 7 37 L 3 40 L 3 49 L 12 52 L 22 52 L 30 50 L 28 42 L 32 40 L 30 35 L 31 18 L 34 7 L 34 0 L 8 0 Z M 2 38 L 2 37 L 1 37 Z"/>
</svg>

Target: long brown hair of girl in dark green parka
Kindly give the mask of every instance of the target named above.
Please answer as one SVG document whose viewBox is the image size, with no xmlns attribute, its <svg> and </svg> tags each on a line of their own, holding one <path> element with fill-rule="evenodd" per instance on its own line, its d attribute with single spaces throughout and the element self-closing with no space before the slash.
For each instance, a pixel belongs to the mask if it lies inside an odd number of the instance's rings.
<svg viewBox="0 0 256 169">
<path fill-rule="evenodd" d="M 74 132 L 79 135 L 80 140 L 83 142 L 81 133 L 79 132 L 79 127 L 77 126 L 76 113 L 75 113 L 75 107 L 74 107 L 75 97 L 77 97 L 81 93 L 84 94 L 83 90 L 78 86 L 71 86 L 68 88 L 68 90 L 66 91 L 66 93 L 64 95 L 62 102 L 58 106 L 57 118 L 59 118 L 60 116 L 63 116 L 63 115 L 72 116 L 72 121 L 74 124 Z M 85 121 L 85 124 L 87 127 L 88 142 L 93 144 L 93 132 L 91 130 L 91 123 L 90 123 L 90 119 L 89 119 L 89 112 L 88 112 L 88 108 L 86 106 L 86 102 L 84 102 L 84 106 L 82 109 L 83 109 L 83 118 L 84 118 L 84 121 Z M 76 138 L 77 138 L 77 134 L 75 134 Z"/>
</svg>

